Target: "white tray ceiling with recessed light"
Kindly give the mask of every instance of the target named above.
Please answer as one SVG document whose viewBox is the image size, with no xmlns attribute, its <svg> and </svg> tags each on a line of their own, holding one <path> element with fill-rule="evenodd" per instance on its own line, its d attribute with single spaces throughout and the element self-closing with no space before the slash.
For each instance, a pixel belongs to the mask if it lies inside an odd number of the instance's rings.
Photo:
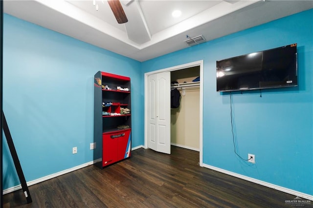
<svg viewBox="0 0 313 208">
<path fill-rule="evenodd" d="M 4 0 L 4 13 L 112 52 L 146 61 L 313 8 L 313 0 L 121 0 L 118 24 L 106 0 Z M 172 17 L 179 9 L 182 15 Z"/>
</svg>

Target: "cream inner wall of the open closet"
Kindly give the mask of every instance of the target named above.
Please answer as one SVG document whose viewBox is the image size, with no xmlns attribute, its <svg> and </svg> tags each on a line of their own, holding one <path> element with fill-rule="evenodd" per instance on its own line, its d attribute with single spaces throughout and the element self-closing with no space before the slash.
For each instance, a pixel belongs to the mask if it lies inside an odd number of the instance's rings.
<svg viewBox="0 0 313 208">
<path fill-rule="evenodd" d="M 171 81 L 192 82 L 200 76 L 200 67 L 191 67 L 171 72 Z M 171 143 L 199 151 L 200 145 L 200 87 L 186 88 L 181 95 L 179 108 L 171 109 Z"/>
</svg>

